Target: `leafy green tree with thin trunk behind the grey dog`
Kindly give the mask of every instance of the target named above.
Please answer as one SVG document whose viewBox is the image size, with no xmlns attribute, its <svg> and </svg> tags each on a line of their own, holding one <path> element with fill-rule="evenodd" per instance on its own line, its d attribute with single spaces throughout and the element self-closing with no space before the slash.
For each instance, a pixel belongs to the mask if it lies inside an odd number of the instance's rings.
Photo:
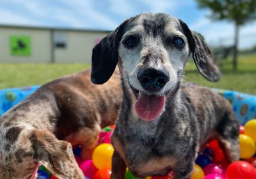
<svg viewBox="0 0 256 179">
<path fill-rule="evenodd" d="M 214 20 L 232 21 L 235 26 L 233 69 L 237 70 L 239 29 L 245 23 L 256 19 L 256 0 L 196 0 L 200 8 L 212 11 L 210 18 Z"/>
</svg>

